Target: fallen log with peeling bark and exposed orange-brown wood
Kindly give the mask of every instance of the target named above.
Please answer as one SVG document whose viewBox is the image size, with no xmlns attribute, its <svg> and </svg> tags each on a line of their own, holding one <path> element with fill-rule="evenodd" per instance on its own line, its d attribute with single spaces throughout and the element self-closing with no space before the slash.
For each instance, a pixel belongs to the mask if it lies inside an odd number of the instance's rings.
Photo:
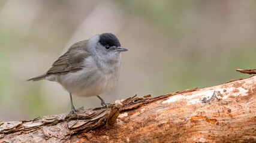
<svg viewBox="0 0 256 143">
<path fill-rule="evenodd" d="M 0 142 L 256 142 L 256 76 L 79 114 L 0 122 Z"/>
</svg>

